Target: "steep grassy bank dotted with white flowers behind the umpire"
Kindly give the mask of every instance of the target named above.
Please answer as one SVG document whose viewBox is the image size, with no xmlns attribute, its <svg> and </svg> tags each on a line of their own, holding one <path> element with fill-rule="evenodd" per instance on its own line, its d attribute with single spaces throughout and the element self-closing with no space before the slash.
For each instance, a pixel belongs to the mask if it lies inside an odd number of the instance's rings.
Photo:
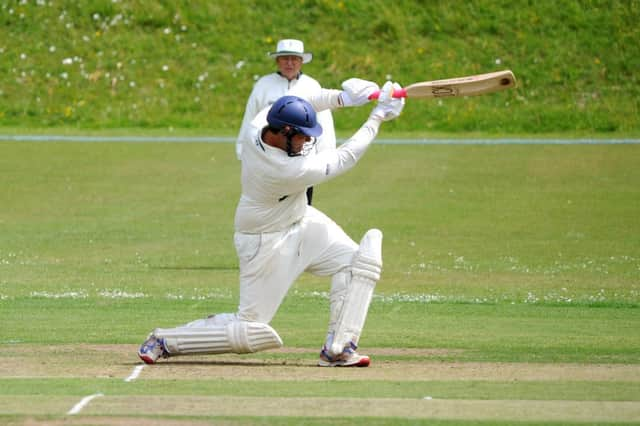
<svg viewBox="0 0 640 426">
<path fill-rule="evenodd" d="M 518 78 L 505 93 L 411 101 L 395 131 L 637 137 L 639 18 L 637 1 L 7 3 L 0 125 L 235 134 L 255 79 L 274 70 L 266 53 L 298 37 L 314 53 L 305 71 L 327 87 L 504 68 Z"/>
</svg>

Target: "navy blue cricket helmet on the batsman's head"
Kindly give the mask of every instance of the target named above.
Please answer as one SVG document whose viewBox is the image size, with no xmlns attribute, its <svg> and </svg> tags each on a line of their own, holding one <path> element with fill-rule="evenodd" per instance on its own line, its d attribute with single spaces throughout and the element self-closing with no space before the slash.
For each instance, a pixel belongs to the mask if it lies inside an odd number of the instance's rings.
<svg viewBox="0 0 640 426">
<path fill-rule="evenodd" d="M 317 137 L 322 134 L 322 126 L 316 119 L 311 104 L 297 96 L 283 96 L 271 105 L 267 114 L 269 126 L 282 129 L 291 126 L 297 133 Z"/>
</svg>

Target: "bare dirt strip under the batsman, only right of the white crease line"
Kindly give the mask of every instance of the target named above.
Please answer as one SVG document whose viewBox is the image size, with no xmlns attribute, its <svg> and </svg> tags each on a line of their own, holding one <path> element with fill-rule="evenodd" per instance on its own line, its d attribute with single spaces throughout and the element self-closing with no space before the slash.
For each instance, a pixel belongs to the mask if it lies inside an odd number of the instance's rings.
<svg viewBox="0 0 640 426">
<path fill-rule="evenodd" d="M 393 381 L 640 381 L 640 366 L 580 364 L 373 362 L 366 369 L 318 368 L 306 362 L 274 364 L 250 361 L 169 359 L 145 368 L 147 379 L 227 380 L 393 380 Z"/>
</svg>

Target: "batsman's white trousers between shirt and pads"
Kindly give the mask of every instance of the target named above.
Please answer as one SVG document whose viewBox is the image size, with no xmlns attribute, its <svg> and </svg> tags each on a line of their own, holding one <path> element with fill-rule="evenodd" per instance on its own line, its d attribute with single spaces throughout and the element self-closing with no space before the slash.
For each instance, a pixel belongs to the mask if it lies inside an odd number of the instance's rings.
<svg viewBox="0 0 640 426">
<path fill-rule="evenodd" d="M 338 224 L 307 206 L 304 217 L 280 232 L 236 232 L 240 262 L 238 318 L 269 324 L 303 273 L 331 276 L 351 266 L 356 244 Z"/>
</svg>

